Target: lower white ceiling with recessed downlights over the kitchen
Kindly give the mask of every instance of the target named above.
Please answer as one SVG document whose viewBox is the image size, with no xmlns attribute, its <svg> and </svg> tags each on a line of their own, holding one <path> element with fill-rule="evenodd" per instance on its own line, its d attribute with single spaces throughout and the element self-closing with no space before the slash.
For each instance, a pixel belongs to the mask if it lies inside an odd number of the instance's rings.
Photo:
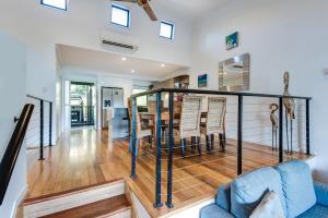
<svg viewBox="0 0 328 218">
<path fill-rule="evenodd" d="M 150 81 L 160 81 L 171 73 L 188 69 L 183 65 L 65 45 L 58 45 L 57 51 L 62 68 L 79 69 L 95 73 L 119 74 Z M 122 60 L 124 57 L 126 61 Z M 162 64 L 165 64 L 165 66 L 163 68 Z M 134 70 L 134 73 L 131 72 L 132 70 Z"/>
</svg>

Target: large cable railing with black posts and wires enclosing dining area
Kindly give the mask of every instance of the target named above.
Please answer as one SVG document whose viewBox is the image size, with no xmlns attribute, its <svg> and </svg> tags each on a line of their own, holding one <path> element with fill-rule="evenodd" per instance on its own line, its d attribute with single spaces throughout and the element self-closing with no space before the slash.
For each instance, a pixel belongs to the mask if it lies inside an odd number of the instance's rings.
<svg viewBox="0 0 328 218">
<path fill-rule="evenodd" d="M 152 146 L 151 141 L 142 146 L 137 144 L 140 140 L 137 138 L 137 132 L 140 131 L 137 98 L 142 96 L 152 96 L 156 101 L 156 109 L 153 111 L 155 120 L 152 121 L 155 125 L 155 146 Z M 226 98 L 224 131 L 219 135 L 191 136 L 177 142 L 179 125 L 176 123 L 175 104 L 183 99 L 181 96 Z M 285 105 L 286 99 L 293 100 L 293 114 Z M 165 197 L 166 206 L 173 208 L 175 194 L 192 190 L 197 195 L 200 190 L 215 184 L 216 181 L 209 177 L 210 172 L 202 171 L 204 169 L 216 170 L 223 177 L 237 177 L 256 166 L 270 166 L 311 156 L 311 99 L 301 96 L 178 88 L 161 88 L 132 95 L 131 178 L 152 178 L 154 207 L 162 207 L 162 199 Z M 165 120 L 164 112 L 168 114 Z M 215 143 L 218 141 L 219 144 Z M 137 164 L 154 164 L 154 174 L 137 173 Z M 186 195 L 191 194 L 184 196 Z"/>
</svg>

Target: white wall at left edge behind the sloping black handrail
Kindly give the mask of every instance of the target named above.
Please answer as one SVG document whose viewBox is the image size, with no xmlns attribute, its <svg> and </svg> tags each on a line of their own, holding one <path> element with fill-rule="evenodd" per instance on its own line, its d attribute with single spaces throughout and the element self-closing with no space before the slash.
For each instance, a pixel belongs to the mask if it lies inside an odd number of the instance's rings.
<svg viewBox="0 0 328 218">
<path fill-rule="evenodd" d="M 19 117 L 26 95 L 26 51 L 24 45 L 0 31 L 0 159 L 14 130 L 13 118 Z M 2 174 L 1 174 L 2 177 Z M 23 143 L 0 215 L 12 217 L 19 198 L 26 191 L 26 150 Z"/>
</svg>

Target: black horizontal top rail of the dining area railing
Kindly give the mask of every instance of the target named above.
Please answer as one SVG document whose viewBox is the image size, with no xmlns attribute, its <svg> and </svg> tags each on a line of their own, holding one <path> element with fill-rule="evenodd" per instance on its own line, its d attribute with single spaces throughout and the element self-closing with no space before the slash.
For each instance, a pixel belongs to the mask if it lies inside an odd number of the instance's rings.
<svg viewBox="0 0 328 218">
<path fill-rule="evenodd" d="M 226 96 L 248 96 L 248 97 L 267 97 L 267 98 L 295 98 L 295 99 L 308 99 L 312 97 L 302 96 L 284 96 L 284 95 L 271 95 L 261 93 L 235 93 L 235 92 L 221 92 L 221 90 L 203 90 L 203 89 L 187 89 L 187 88 L 157 88 L 149 92 L 131 95 L 132 98 L 152 95 L 156 93 L 188 93 L 188 94 L 208 94 L 208 95 L 226 95 Z"/>
</svg>

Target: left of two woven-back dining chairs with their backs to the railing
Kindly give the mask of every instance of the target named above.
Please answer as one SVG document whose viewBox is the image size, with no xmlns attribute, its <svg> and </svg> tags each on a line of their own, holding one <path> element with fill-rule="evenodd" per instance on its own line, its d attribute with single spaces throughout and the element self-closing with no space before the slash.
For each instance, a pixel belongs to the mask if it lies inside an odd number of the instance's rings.
<svg viewBox="0 0 328 218">
<path fill-rule="evenodd" d="M 191 152 L 195 152 L 195 145 L 198 146 L 199 156 L 201 156 L 200 146 L 200 116 L 202 97 L 184 96 L 181 102 L 179 128 L 175 129 L 180 140 L 181 156 L 186 154 L 186 138 L 191 137 Z"/>
</svg>

